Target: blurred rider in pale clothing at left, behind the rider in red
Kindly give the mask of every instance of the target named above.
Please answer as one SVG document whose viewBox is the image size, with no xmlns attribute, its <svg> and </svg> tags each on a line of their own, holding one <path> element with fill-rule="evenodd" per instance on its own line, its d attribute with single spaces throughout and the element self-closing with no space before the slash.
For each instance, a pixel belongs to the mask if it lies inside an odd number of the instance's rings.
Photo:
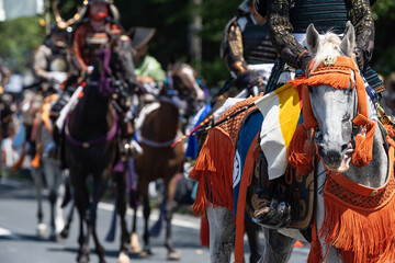
<svg viewBox="0 0 395 263">
<path fill-rule="evenodd" d="M 70 28 L 60 28 L 57 23 L 53 24 L 50 34 L 34 54 L 33 72 L 43 93 L 49 89 L 58 90 L 67 78 L 66 47 L 70 31 Z"/>
</svg>

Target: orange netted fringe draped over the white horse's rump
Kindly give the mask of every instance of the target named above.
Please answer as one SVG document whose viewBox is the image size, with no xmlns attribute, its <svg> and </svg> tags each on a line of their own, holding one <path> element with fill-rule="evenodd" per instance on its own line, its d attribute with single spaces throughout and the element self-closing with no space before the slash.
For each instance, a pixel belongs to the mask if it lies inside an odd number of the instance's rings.
<svg viewBox="0 0 395 263">
<path fill-rule="evenodd" d="M 218 118 L 218 122 L 246 108 L 261 96 L 262 94 L 236 103 Z M 206 141 L 190 173 L 190 178 L 199 181 L 196 198 L 192 206 L 195 214 L 200 215 L 207 208 L 207 199 L 214 207 L 222 206 L 233 210 L 233 169 L 237 137 L 245 117 L 256 110 L 257 106 L 246 108 L 241 114 L 208 132 Z"/>
</svg>

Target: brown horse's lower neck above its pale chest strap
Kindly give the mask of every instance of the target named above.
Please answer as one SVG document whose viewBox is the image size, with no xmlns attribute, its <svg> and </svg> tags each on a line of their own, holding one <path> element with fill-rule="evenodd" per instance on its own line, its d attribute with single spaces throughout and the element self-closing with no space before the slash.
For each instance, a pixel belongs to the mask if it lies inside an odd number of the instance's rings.
<svg viewBox="0 0 395 263">
<path fill-rule="evenodd" d="M 174 139 L 178 130 L 178 108 L 171 103 L 160 102 L 160 106 L 150 119 L 150 124 L 143 127 L 142 136 L 157 142 L 163 142 Z"/>
</svg>

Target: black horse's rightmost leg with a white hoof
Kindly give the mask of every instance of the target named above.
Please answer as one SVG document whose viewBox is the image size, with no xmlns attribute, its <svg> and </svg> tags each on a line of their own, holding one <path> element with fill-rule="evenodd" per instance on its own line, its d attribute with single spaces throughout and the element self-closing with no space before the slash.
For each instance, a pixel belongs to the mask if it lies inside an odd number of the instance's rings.
<svg viewBox="0 0 395 263">
<path fill-rule="evenodd" d="M 131 259 L 128 256 L 127 244 L 128 240 L 128 232 L 126 229 L 126 201 L 125 201 L 125 191 L 126 191 L 126 180 L 125 173 L 114 173 L 114 181 L 116 184 L 116 210 L 120 215 L 121 219 L 121 244 L 120 244 L 120 256 L 119 263 L 128 263 Z"/>
</svg>

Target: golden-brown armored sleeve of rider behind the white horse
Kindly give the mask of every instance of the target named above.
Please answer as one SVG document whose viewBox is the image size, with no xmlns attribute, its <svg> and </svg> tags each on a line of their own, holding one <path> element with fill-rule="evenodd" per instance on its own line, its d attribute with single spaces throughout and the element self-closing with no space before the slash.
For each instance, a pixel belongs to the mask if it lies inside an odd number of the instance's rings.
<svg viewBox="0 0 395 263">
<path fill-rule="evenodd" d="M 247 69 L 247 62 L 242 54 L 242 35 L 237 20 L 228 23 L 224 31 L 222 56 L 224 57 L 228 68 L 240 77 Z"/>
</svg>

